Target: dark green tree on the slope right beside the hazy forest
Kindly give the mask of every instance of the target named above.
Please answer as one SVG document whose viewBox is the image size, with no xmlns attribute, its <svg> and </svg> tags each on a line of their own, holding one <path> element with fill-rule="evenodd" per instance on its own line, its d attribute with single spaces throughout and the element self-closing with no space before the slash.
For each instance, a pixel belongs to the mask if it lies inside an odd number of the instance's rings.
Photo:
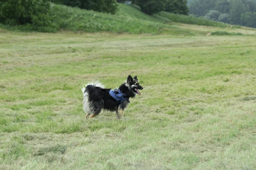
<svg viewBox="0 0 256 170">
<path fill-rule="evenodd" d="M 188 15 L 187 0 L 166 0 L 165 11 L 175 14 Z"/>
</svg>

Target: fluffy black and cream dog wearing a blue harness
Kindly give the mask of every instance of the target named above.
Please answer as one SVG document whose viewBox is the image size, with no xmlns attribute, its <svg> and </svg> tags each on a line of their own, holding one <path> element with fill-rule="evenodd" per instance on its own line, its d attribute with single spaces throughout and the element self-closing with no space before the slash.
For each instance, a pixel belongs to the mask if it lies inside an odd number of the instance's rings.
<svg viewBox="0 0 256 170">
<path fill-rule="evenodd" d="M 133 98 L 136 94 L 141 95 L 139 90 L 143 90 L 137 76 L 132 78 L 130 75 L 127 80 L 119 87 L 119 89 L 105 89 L 105 86 L 95 81 L 88 83 L 82 88 L 83 93 L 83 110 L 88 118 L 98 115 L 101 110 L 116 113 L 118 120 L 124 118 L 124 109 L 130 103 L 129 98 Z"/>
</svg>

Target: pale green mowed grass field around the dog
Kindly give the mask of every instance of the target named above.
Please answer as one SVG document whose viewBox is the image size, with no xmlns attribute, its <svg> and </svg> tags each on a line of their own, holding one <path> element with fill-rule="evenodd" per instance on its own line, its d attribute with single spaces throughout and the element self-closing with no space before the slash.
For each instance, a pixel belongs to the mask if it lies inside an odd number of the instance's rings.
<svg viewBox="0 0 256 170">
<path fill-rule="evenodd" d="M 201 27 L 200 27 L 201 28 Z M 254 35 L 0 34 L 0 169 L 255 169 Z M 81 87 L 138 76 L 125 119 Z"/>
</svg>

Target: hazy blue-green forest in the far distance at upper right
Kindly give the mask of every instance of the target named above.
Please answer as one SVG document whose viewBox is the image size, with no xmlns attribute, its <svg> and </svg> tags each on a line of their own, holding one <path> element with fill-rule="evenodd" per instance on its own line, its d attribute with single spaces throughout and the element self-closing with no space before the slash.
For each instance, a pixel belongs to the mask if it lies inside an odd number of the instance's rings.
<svg viewBox="0 0 256 170">
<path fill-rule="evenodd" d="M 189 13 L 208 20 L 256 27 L 256 0 L 190 0 Z"/>
</svg>

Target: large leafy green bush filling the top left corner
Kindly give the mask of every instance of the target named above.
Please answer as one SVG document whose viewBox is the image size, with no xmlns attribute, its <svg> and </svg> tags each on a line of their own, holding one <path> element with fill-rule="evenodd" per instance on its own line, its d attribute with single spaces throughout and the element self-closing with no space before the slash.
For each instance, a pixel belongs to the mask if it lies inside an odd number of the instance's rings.
<svg viewBox="0 0 256 170">
<path fill-rule="evenodd" d="M 0 22 L 41 32 L 56 32 L 52 5 L 48 0 L 2 0 Z"/>
</svg>

